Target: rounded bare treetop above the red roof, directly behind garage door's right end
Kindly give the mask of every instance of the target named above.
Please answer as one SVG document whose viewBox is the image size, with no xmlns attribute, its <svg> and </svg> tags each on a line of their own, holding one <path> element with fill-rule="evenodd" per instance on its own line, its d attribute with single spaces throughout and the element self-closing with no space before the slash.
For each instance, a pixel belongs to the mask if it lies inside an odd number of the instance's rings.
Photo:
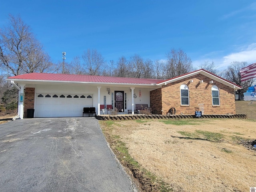
<svg viewBox="0 0 256 192">
<path fill-rule="evenodd" d="M 82 55 L 82 59 L 86 66 L 86 74 L 101 75 L 104 69 L 104 58 L 97 50 L 88 49 Z"/>
</svg>

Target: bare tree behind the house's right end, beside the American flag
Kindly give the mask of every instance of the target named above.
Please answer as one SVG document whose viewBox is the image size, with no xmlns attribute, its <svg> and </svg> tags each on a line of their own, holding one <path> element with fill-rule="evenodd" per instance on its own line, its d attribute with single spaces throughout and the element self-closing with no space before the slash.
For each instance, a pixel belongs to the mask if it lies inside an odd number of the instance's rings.
<svg viewBox="0 0 256 192">
<path fill-rule="evenodd" d="M 242 100 L 241 94 L 245 93 L 248 87 L 251 87 L 255 81 L 255 78 L 250 80 L 241 81 L 240 69 L 248 66 L 247 62 L 234 61 L 230 63 L 230 66 L 225 70 L 225 78 L 231 82 L 242 86 L 242 89 L 237 90 L 238 100 Z"/>
</svg>

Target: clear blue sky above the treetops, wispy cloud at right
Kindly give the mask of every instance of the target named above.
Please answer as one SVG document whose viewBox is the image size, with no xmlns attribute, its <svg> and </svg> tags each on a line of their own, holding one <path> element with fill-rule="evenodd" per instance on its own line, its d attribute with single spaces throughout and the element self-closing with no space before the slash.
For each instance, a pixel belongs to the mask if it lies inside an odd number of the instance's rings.
<svg viewBox="0 0 256 192">
<path fill-rule="evenodd" d="M 0 27 L 20 14 L 53 62 L 88 48 L 105 60 L 165 60 L 181 48 L 196 67 L 256 62 L 255 0 L 0 0 Z"/>
</svg>

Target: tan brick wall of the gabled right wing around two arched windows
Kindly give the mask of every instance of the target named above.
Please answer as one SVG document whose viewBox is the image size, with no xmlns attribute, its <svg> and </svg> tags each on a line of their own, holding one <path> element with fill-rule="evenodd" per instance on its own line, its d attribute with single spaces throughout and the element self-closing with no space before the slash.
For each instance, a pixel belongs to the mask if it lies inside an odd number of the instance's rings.
<svg viewBox="0 0 256 192">
<path fill-rule="evenodd" d="M 189 82 L 193 80 L 193 82 Z M 199 83 L 200 80 L 203 80 L 203 83 Z M 213 80 L 213 84 L 209 84 L 209 81 L 212 79 L 202 75 L 197 74 L 183 80 L 169 83 L 162 86 L 162 104 L 154 101 L 154 98 L 159 98 L 158 94 L 160 91 L 150 92 L 150 106 L 151 103 L 156 103 L 156 110 L 159 113 L 161 112 L 161 107 L 163 110 L 162 114 L 167 114 L 168 110 L 172 107 L 176 109 L 176 114 L 194 114 L 195 107 L 198 104 L 204 104 L 204 114 L 236 114 L 235 108 L 235 98 L 234 98 L 234 89 L 230 88 L 220 82 Z M 180 99 L 180 86 L 186 84 L 189 88 L 189 106 L 181 106 Z M 218 86 L 220 94 L 220 106 L 212 105 L 212 86 Z M 151 96 L 152 95 L 152 96 Z"/>
</svg>

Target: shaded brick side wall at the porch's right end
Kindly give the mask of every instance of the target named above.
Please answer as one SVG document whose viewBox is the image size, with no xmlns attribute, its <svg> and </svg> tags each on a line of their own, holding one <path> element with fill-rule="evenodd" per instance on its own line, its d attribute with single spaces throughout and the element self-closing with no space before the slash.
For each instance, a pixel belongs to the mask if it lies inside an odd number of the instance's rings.
<svg viewBox="0 0 256 192">
<path fill-rule="evenodd" d="M 150 108 L 153 114 L 162 114 L 162 88 L 150 91 Z"/>
</svg>

